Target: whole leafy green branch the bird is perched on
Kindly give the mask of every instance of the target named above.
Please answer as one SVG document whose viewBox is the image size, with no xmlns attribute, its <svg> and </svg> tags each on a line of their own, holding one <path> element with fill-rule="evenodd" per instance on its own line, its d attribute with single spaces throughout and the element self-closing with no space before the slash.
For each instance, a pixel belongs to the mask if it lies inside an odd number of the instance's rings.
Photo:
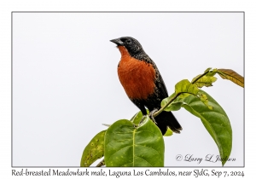
<svg viewBox="0 0 256 179">
<path fill-rule="evenodd" d="M 232 148 L 232 129 L 230 119 L 224 109 L 211 95 L 201 90 L 216 82 L 214 77 L 228 79 L 244 87 L 244 78 L 230 69 L 207 70 L 189 82 L 183 79 L 175 85 L 175 92 L 161 101 L 162 111 L 177 111 L 181 107 L 201 119 L 202 124 L 218 146 L 222 159 L 229 158 Z M 164 136 L 172 136 L 168 128 Z M 108 130 L 98 133 L 84 148 L 81 166 L 90 166 L 96 159 L 105 159 L 97 165 L 106 166 L 164 166 L 165 145 L 160 129 L 141 112 L 130 120 L 120 119 L 111 124 Z M 224 165 L 226 160 L 222 161 Z"/>
</svg>

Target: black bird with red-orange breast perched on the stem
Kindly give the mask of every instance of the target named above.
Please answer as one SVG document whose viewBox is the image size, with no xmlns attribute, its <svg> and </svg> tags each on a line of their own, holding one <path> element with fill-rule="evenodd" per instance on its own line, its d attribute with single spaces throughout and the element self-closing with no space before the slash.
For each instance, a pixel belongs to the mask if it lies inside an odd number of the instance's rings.
<svg viewBox="0 0 256 179">
<path fill-rule="evenodd" d="M 121 53 L 118 65 L 119 80 L 130 100 L 143 115 L 147 115 L 145 107 L 150 112 L 160 109 L 160 102 L 168 97 L 168 93 L 154 61 L 144 52 L 142 45 L 135 38 L 123 37 L 110 41 L 117 44 Z M 163 135 L 167 126 L 176 133 L 182 130 L 172 112 L 163 111 L 154 119 Z"/>
</svg>

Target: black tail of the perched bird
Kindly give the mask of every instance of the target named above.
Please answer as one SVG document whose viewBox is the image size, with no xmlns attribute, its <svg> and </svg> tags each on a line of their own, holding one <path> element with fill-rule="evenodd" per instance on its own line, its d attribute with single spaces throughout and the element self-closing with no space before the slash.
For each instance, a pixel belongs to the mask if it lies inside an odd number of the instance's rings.
<svg viewBox="0 0 256 179">
<path fill-rule="evenodd" d="M 180 133 L 180 130 L 183 130 L 182 126 L 177 122 L 177 119 L 172 112 L 163 111 L 157 117 L 155 117 L 154 120 L 163 135 L 166 134 L 167 126 L 175 133 Z"/>
</svg>

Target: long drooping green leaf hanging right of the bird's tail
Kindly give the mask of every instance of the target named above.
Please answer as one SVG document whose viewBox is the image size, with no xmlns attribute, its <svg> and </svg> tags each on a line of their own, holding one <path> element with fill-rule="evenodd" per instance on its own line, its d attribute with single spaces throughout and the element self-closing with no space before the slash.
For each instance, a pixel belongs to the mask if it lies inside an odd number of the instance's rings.
<svg viewBox="0 0 256 179">
<path fill-rule="evenodd" d="M 232 129 L 230 120 L 224 109 L 220 107 L 217 101 L 212 96 L 208 95 L 205 91 L 200 90 L 200 93 L 207 95 L 207 101 L 210 107 L 207 107 L 201 99 L 195 95 L 189 95 L 183 99 L 183 107 L 194 114 L 196 117 L 201 118 L 202 124 L 206 127 L 212 139 L 218 146 L 218 151 L 222 159 L 229 158 L 232 148 Z M 222 165 L 226 161 L 222 161 Z"/>
</svg>

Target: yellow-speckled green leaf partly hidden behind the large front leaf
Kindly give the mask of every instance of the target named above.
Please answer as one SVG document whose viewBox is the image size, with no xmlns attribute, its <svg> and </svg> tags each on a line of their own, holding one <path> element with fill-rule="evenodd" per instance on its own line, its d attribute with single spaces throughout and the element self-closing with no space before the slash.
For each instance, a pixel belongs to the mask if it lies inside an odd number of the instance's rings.
<svg viewBox="0 0 256 179">
<path fill-rule="evenodd" d="M 97 159 L 101 159 L 103 157 L 105 132 L 106 130 L 99 132 L 84 148 L 84 153 L 80 162 L 81 167 L 90 166 Z"/>
</svg>

